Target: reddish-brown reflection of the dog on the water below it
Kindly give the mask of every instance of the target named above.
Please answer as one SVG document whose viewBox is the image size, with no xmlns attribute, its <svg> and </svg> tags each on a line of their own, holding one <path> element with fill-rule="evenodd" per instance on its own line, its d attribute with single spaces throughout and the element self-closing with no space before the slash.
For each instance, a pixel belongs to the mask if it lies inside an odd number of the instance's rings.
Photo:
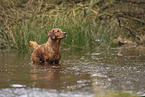
<svg viewBox="0 0 145 97">
<path fill-rule="evenodd" d="M 61 88 L 61 65 L 31 65 L 30 71 L 31 80 L 33 80 L 33 86 L 39 88 Z"/>
</svg>

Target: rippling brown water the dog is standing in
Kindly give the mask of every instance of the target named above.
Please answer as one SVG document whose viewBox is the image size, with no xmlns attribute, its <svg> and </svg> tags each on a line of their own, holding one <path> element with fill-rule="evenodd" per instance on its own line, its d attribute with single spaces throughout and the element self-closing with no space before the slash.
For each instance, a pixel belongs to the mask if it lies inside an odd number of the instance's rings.
<svg viewBox="0 0 145 97">
<path fill-rule="evenodd" d="M 30 53 L 0 51 L 0 97 L 92 97 L 145 92 L 145 50 L 63 50 L 61 64 L 32 64 Z"/>
</svg>

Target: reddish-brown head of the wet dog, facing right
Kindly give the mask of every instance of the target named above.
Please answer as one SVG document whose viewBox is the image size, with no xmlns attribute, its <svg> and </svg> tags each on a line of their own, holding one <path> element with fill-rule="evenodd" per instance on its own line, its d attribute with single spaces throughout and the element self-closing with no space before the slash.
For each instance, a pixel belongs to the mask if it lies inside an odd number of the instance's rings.
<svg viewBox="0 0 145 97">
<path fill-rule="evenodd" d="M 54 28 L 48 33 L 48 36 L 51 37 L 52 40 L 58 40 L 65 38 L 67 35 L 66 32 L 62 32 L 61 29 Z"/>
</svg>

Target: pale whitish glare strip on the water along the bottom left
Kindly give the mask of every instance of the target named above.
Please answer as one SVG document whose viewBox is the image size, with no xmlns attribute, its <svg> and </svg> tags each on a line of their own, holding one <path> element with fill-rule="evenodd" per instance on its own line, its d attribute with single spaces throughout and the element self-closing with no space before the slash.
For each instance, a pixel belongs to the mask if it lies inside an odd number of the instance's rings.
<svg viewBox="0 0 145 97">
<path fill-rule="evenodd" d="M 40 88 L 6 88 L 0 91 L 1 97 L 93 97 L 92 94 L 60 92 L 57 90 L 46 90 Z"/>
</svg>

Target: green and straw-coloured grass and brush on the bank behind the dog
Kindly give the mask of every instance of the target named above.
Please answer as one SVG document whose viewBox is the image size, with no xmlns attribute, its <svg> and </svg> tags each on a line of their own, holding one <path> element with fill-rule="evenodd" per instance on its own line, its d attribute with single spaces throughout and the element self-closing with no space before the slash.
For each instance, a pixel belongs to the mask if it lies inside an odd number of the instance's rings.
<svg viewBox="0 0 145 97">
<path fill-rule="evenodd" d="M 145 43 L 144 0 L 1 0 L 0 48 L 29 50 L 52 28 L 68 38 L 64 48 L 115 46 L 114 39 Z"/>
</svg>

